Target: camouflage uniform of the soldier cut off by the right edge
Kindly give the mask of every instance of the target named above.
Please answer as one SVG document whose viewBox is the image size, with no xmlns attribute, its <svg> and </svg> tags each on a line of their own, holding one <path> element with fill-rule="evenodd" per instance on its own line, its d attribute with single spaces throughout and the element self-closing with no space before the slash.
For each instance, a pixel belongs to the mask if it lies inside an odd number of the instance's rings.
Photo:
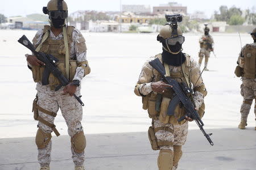
<svg viewBox="0 0 256 170">
<path fill-rule="evenodd" d="M 249 44 L 249 45 L 255 47 L 256 43 L 254 42 L 253 44 Z M 240 57 L 238 58 L 238 62 L 237 62 L 241 68 L 245 67 L 244 57 L 246 56 L 244 52 L 245 52 L 246 46 L 242 48 Z M 245 122 L 245 126 L 246 126 L 247 117 L 250 112 L 251 104 L 253 103 L 253 100 L 256 99 L 256 78 L 255 79 L 246 78 L 244 75 L 242 75 L 241 95 L 243 97 L 243 103 L 241 105 L 241 111 L 240 111 L 241 123 Z M 254 106 L 254 113 L 256 117 L 256 105 Z"/>
</svg>

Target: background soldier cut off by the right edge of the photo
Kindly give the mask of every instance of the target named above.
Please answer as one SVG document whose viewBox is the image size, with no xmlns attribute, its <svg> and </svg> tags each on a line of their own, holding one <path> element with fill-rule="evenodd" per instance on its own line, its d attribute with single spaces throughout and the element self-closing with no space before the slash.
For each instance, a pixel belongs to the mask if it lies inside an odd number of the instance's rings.
<svg viewBox="0 0 256 170">
<path fill-rule="evenodd" d="M 245 126 L 247 126 L 246 122 L 251 104 L 254 99 L 256 100 L 256 28 L 253 29 L 251 37 L 253 37 L 254 42 L 243 46 L 235 71 L 238 77 L 242 77 L 241 95 L 243 96 L 243 103 L 240 111 L 241 122 L 238 125 L 239 129 L 245 129 Z M 256 116 L 256 104 L 254 106 L 254 113 Z"/>
</svg>

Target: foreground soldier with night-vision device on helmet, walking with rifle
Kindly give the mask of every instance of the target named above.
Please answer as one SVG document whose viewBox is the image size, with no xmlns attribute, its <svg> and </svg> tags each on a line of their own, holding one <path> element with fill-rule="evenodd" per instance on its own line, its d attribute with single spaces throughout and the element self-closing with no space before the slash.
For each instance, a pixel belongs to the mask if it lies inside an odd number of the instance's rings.
<svg viewBox="0 0 256 170">
<path fill-rule="evenodd" d="M 170 85 L 162 81 L 158 71 L 148 62 L 159 58 L 166 68 L 166 76 L 171 76 L 193 88 L 196 108 L 199 109 L 201 117 L 204 113 L 204 96 L 207 91 L 200 77 L 199 65 L 188 54 L 181 52 L 184 40 L 179 26 L 175 35 L 172 25 L 165 25 L 158 35 L 158 41 L 163 45 L 163 52 L 144 63 L 134 90 L 136 95 L 142 96 L 143 109 L 146 109 L 148 116 L 152 118 L 148 137 L 152 149 L 160 150 L 159 170 L 177 168 L 182 155 L 181 147 L 187 139 L 188 121 L 192 119 L 187 117 L 186 120 L 177 121 L 185 115 L 185 109 L 181 105 L 176 107 L 174 116 L 167 116 L 167 108 L 174 97 L 174 91 Z"/>
</svg>

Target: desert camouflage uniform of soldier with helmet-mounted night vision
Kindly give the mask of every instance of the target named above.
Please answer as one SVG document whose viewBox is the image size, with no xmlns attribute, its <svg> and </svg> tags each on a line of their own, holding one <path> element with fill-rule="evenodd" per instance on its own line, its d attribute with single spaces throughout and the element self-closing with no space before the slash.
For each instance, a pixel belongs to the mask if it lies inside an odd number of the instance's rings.
<svg viewBox="0 0 256 170">
<path fill-rule="evenodd" d="M 142 72 L 139 76 L 138 84 L 135 87 L 136 95 L 146 96 L 151 93 L 155 93 L 152 91 L 151 83 L 157 82 L 159 80 L 159 77 L 157 75 L 159 73 L 156 73 L 157 71 L 155 69 L 153 69 L 152 66 L 148 62 L 154 60 L 157 57 L 160 59 L 159 55 L 157 55 L 155 57 L 151 57 L 146 63 L 144 63 L 144 65 L 142 67 Z M 199 66 L 197 65 L 196 61 L 194 59 L 190 58 L 188 55 L 186 58 L 187 58 L 187 62 L 191 63 L 191 66 L 189 67 L 189 71 L 193 76 L 191 76 L 190 83 L 193 84 L 194 89 L 195 89 L 195 94 L 193 95 L 193 98 L 195 99 L 196 107 L 200 108 L 204 101 L 204 94 L 201 93 L 201 91 L 197 91 L 196 89 L 200 89 L 201 87 L 204 87 L 203 79 L 201 77 L 199 77 L 200 69 L 199 69 Z M 188 60 L 190 60 L 190 61 L 188 61 Z M 160 61 L 162 61 L 162 59 L 160 59 Z M 181 72 L 180 66 L 169 65 L 169 68 L 170 68 L 170 73 L 180 73 Z M 183 82 L 185 82 L 184 77 L 182 79 L 183 79 Z M 199 81 L 196 84 L 197 79 L 199 79 Z M 181 81 L 180 78 L 176 78 L 176 80 L 179 82 Z M 204 88 L 204 91 L 206 91 L 205 88 Z M 184 145 L 184 143 L 187 139 L 188 121 L 183 122 L 183 124 L 179 124 L 176 119 L 176 120 L 172 120 L 172 122 L 174 122 L 174 123 L 171 123 L 170 121 L 168 121 L 168 122 L 161 121 L 159 118 L 159 115 L 152 118 L 152 126 L 154 127 L 154 129 L 159 128 L 159 127 L 168 127 L 169 129 L 171 129 L 168 131 L 166 131 L 164 129 L 155 131 L 155 137 L 158 142 L 159 141 L 169 141 L 169 142 L 173 143 L 173 146 L 172 145 L 160 146 L 159 147 L 160 150 L 171 150 L 171 151 L 175 152 L 175 148 L 177 146 L 181 147 L 182 145 Z M 180 155 L 180 157 L 181 157 L 181 155 Z M 179 162 L 179 159 L 177 160 L 177 162 Z M 174 167 L 172 169 L 177 168 L 177 162 L 175 163 L 175 161 L 174 161 L 174 164 L 173 164 Z"/>
</svg>

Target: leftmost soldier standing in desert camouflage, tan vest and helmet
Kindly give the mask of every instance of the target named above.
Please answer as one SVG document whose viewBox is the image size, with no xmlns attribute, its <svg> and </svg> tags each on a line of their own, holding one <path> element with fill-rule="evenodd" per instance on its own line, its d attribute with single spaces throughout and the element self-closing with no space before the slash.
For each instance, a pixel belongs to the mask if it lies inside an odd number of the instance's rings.
<svg viewBox="0 0 256 170">
<path fill-rule="evenodd" d="M 86 146 L 84 131 L 81 125 L 82 106 L 73 97 L 80 96 L 81 80 L 90 73 L 86 59 L 85 39 L 81 32 L 67 26 L 68 7 L 63 0 L 51 0 L 43 8 L 49 15 L 51 25 L 38 31 L 33 39 L 36 51 L 52 54 L 59 59 L 57 67 L 69 80 L 69 84 L 55 91 L 59 80 L 49 75 L 49 84 L 42 85 L 44 63 L 33 55 L 26 55 L 28 67 L 32 70 L 33 79 L 37 83 L 38 94 L 33 104 L 34 118 L 38 120 L 36 145 L 38 146 L 38 162 L 41 170 L 48 170 L 51 162 L 51 133 L 60 135 L 53 124 L 57 111 L 60 109 L 71 137 L 72 159 L 76 170 L 84 169 L 84 149 Z"/>
</svg>

